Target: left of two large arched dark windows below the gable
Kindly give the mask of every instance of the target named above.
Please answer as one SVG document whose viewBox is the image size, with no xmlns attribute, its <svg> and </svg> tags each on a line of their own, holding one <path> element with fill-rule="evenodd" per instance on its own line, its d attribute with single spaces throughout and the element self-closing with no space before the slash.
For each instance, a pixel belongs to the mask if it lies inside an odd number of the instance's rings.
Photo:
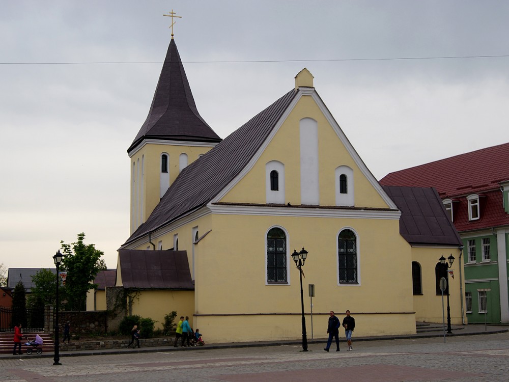
<svg viewBox="0 0 509 382">
<path fill-rule="evenodd" d="M 286 235 L 280 228 L 267 233 L 267 282 L 287 282 Z"/>
</svg>

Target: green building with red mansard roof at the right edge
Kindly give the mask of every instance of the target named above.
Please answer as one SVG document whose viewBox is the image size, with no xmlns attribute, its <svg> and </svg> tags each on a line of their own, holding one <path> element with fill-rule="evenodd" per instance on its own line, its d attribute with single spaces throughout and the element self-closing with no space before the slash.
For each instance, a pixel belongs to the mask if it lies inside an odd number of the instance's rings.
<svg viewBox="0 0 509 382">
<path fill-rule="evenodd" d="M 468 321 L 509 322 L 509 143 L 393 172 L 383 185 L 435 187 L 464 246 Z"/>
</svg>

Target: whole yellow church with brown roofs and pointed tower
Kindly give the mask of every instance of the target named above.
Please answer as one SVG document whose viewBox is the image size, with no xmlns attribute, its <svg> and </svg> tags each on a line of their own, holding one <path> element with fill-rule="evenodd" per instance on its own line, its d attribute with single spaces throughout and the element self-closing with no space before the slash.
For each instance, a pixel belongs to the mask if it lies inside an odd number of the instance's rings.
<svg viewBox="0 0 509 382">
<path fill-rule="evenodd" d="M 175 310 L 210 343 L 299 339 L 292 253 L 305 249 L 308 337 L 308 285 L 315 338 L 326 336 L 331 310 L 342 319 L 349 309 L 358 336 L 411 334 L 416 321 L 442 321 L 436 265 L 442 255 L 459 259 L 461 240 L 438 194 L 383 188 L 313 75 L 304 68 L 294 79 L 221 139 L 197 111 L 172 37 L 149 114 L 128 148 L 131 232 L 116 286 L 137 291 L 129 312 L 160 325 Z M 457 274 L 461 266 L 453 265 Z M 448 288 L 451 319 L 461 324 L 461 278 Z"/>
</svg>

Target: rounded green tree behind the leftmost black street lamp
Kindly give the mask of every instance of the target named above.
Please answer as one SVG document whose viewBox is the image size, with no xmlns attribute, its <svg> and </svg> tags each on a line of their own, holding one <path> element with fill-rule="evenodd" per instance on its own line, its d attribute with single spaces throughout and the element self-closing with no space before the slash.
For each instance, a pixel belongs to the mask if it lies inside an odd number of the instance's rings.
<svg viewBox="0 0 509 382">
<path fill-rule="evenodd" d="M 63 302 L 66 298 L 66 288 L 62 285 L 59 277 L 59 300 L 60 309 L 64 308 Z M 56 303 L 56 275 L 49 269 L 41 268 L 35 275 L 32 276 L 34 287 L 31 289 L 29 298 L 27 299 L 27 306 L 32 309 L 40 307 L 41 305 L 53 305 Z"/>
</svg>

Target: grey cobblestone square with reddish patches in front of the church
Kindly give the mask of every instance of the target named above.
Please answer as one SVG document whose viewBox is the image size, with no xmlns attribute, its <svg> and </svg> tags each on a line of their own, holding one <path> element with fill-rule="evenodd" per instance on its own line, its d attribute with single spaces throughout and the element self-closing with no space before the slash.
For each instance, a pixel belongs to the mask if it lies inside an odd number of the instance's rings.
<svg viewBox="0 0 509 382">
<path fill-rule="evenodd" d="M 296 345 L 125 352 L 88 357 L 0 360 L 0 382 L 348 382 L 509 380 L 509 333 L 392 341 L 354 341 L 354 350 L 308 352 Z M 333 349 L 331 349 L 333 350 Z"/>
</svg>

